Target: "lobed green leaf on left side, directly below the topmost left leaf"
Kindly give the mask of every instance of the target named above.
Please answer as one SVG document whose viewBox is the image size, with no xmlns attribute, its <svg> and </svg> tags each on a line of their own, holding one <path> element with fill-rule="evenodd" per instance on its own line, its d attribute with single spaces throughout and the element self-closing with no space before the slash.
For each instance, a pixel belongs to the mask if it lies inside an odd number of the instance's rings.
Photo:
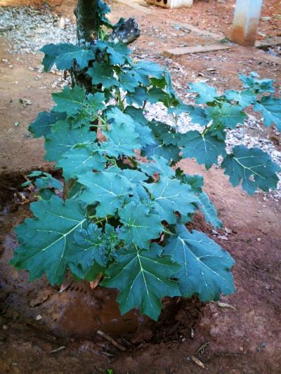
<svg viewBox="0 0 281 374">
<path fill-rule="evenodd" d="M 56 112 L 66 112 L 69 116 L 77 114 L 85 100 L 86 91 L 84 88 L 75 86 L 65 87 L 62 92 L 53 93 L 53 101 L 56 103 Z"/>
</svg>

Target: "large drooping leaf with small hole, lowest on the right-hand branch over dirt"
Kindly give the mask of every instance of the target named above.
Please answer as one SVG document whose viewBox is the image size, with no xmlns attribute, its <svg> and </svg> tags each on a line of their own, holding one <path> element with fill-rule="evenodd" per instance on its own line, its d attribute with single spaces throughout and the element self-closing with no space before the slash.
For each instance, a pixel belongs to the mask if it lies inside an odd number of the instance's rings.
<svg viewBox="0 0 281 374">
<path fill-rule="evenodd" d="M 242 180 L 242 188 L 249 194 L 254 194 L 258 188 L 263 191 L 276 188 L 279 181 L 276 173 L 281 170 L 269 154 L 244 145 L 234 147 L 233 153 L 226 156 L 221 167 L 225 168 L 225 174 L 230 176 L 233 186 L 239 185 Z"/>
</svg>

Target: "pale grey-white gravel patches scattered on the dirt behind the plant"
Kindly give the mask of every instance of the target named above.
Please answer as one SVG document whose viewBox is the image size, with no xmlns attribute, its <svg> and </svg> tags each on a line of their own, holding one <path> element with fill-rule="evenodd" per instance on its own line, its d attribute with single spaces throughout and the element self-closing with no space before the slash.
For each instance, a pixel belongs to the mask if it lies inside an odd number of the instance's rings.
<svg viewBox="0 0 281 374">
<path fill-rule="evenodd" d="M 155 30 L 152 30 L 155 32 Z M 73 43 L 76 41 L 75 25 L 69 19 L 59 17 L 51 13 L 48 6 L 43 8 L 32 8 L 30 6 L 23 7 L 5 7 L 0 8 L 0 34 L 5 36 L 11 42 L 8 52 L 15 54 L 31 53 L 35 54 L 45 44 L 55 43 Z M 155 62 L 163 62 L 171 70 L 174 79 L 174 86 L 183 101 L 192 103 L 192 95 L 186 93 L 185 87 L 181 84 L 182 77 L 185 71 L 177 62 L 171 58 L 164 58 L 161 55 L 155 55 L 151 51 L 143 51 L 139 48 L 133 47 L 133 55 L 140 59 L 155 60 Z M 279 50 L 277 52 L 280 52 Z M 276 51 L 275 51 L 276 53 Z M 30 69 L 33 69 L 30 67 Z M 37 67 L 39 72 L 42 72 L 40 67 Z M 60 75 L 56 69 L 53 74 Z M 190 77 L 192 80 L 195 77 Z M 60 76 L 52 84 L 53 88 L 63 87 L 66 83 Z M 175 126 L 174 119 L 167 114 L 166 108 L 161 103 L 157 105 L 147 105 L 146 114 L 148 119 L 157 119 L 168 123 L 170 126 Z M 262 121 L 258 116 L 249 114 L 248 119 L 242 126 L 237 126 L 234 130 L 227 131 L 226 144 L 228 152 L 234 145 L 245 145 L 246 147 L 259 147 L 263 151 L 268 152 L 273 161 L 281 166 L 281 152 L 279 152 L 273 142 L 268 140 L 263 133 Z M 190 130 L 202 131 L 202 126 L 199 124 L 192 124 L 188 114 L 181 114 L 178 117 L 177 123 L 178 131 L 185 133 Z M 281 173 L 280 173 L 281 178 Z M 277 190 L 270 192 L 267 196 L 272 196 L 276 201 L 281 199 L 281 182 Z"/>
</svg>

